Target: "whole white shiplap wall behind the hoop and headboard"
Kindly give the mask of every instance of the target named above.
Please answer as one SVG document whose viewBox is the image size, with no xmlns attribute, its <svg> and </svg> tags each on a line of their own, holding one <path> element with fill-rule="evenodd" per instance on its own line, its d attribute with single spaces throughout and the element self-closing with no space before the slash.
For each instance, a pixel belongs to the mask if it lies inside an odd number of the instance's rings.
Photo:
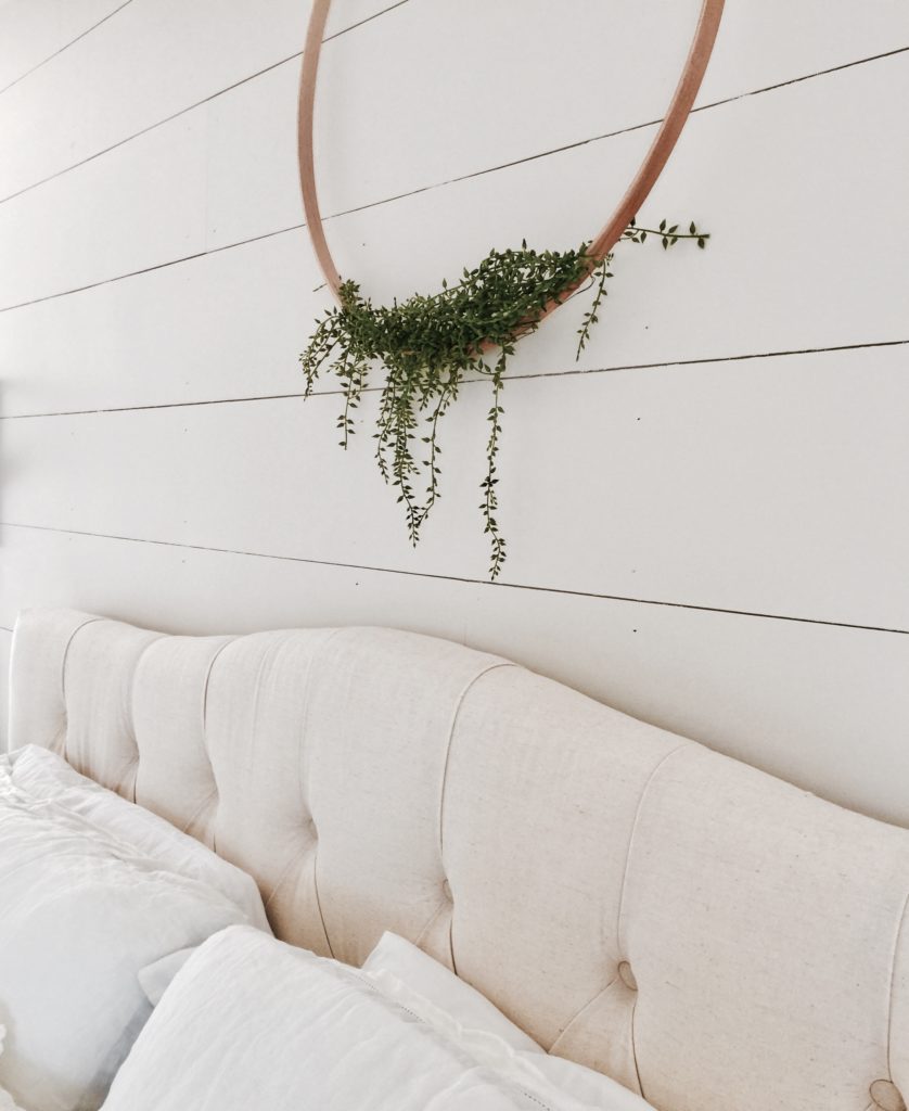
<svg viewBox="0 0 909 1111">
<path fill-rule="evenodd" d="M 728 0 L 579 362 L 573 302 L 482 384 L 411 551 L 297 356 L 306 0 L 0 7 L 0 647 L 74 605 L 173 631 L 384 623 L 500 651 L 909 824 L 909 7 Z M 696 6 L 336 0 L 318 164 L 379 299 L 572 246 L 652 138 Z M 374 412 L 374 394 L 362 417 Z"/>
</svg>

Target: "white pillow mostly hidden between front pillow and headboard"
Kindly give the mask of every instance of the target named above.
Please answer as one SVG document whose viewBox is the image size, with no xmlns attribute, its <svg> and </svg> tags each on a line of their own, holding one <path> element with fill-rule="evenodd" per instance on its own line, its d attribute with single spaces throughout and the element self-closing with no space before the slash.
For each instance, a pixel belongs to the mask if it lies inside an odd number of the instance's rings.
<svg viewBox="0 0 909 1111">
<path fill-rule="evenodd" d="M 603 1073 L 550 1057 L 486 995 L 397 933 L 382 934 L 362 971 L 386 995 L 475 1057 L 480 1052 L 498 1054 L 500 1068 L 508 1069 L 513 1068 L 516 1053 L 518 1059 L 532 1053 L 528 1063 L 583 1104 L 617 1111 L 650 1107 Z"/>
</svg>

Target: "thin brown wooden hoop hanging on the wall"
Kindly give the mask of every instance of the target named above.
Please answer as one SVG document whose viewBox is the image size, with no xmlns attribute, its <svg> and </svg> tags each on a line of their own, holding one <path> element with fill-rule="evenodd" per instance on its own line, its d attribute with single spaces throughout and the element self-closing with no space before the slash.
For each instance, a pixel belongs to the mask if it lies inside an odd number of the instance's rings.
<svg viewBox="0 0 909 1111">
<path fill-rule="evenodd" d="M 558 297 L 549 301 L 542 312 L 535 319 L 535 323 L 539 323 L 550 312 L 558 309 L 587 280 L 590 271 L 616 246 L 621 233 L 637 214 L 638 209 L 656 184 L 657 178 L 662 172 L 669 156 L 672 153 L 672 148 L 681 134 L 681 130 L 695 103 L 695 98 L 700 89 L 707 63 L 713 51 L 713 43 L 716 42 L 717 31 L 719 30 L 722 17 L 723 3 L 725 0 L 702 0 L 695 37 L 691 40 L 688 57 L 685 61 L 679 82 L 676 86 L 676 91 L 672 94 L 672 100 L 669 102 L 669 109 L 638 172 L 631 179 L 631 183 L 626 190 L 625 196 L 619 201 L 612 216 L 600 229 L 596 239 L 587 248 L 587 253 L 590 256 L 590 267 L 587 274 L 572 282 Z M 334 259 L 331 257 L 331 251 L 326 240 L 324 228 L 322 227 L 322 214 L 319 211 L 312 141 L 316 78 L 319 71 L 319 56 L 322 51 L 322 38 L 330 8 L 331 0 L 313 0 L 312 12 L 309 17 L 306 46 L 303 47 L 302 73 L 300 77 L 298 151 L 300 159 L 300 188 L 303 194 L 307 231 L 309 232 L 309 238 L 316 251 L 316 258 L 324 277 L 326 284 L 331 290 L 334 300 L 340 301 L 339 290 L 341 278 L 334 264 Z M 481 348 L 488 350 L 492 346 L 491 343 L 483 343 Z"/>
</svg>

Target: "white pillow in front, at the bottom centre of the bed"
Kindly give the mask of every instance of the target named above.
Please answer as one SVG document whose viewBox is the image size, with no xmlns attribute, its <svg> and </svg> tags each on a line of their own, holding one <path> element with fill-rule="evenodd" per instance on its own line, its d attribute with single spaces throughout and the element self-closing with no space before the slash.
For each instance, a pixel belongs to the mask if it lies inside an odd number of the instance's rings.
<svg viewBox="0 0 909 1111">
<path fill-rule="evenodd" d="M 103 1111 L 646 1108 L 618 1084 L 606 1100 L 581 1102 L 541 1074 L 542 1054 L 481 1037 L 487 1043 L 467 1052 L 368 974 L 232 927 L 177 973 Z"/>
</svg>

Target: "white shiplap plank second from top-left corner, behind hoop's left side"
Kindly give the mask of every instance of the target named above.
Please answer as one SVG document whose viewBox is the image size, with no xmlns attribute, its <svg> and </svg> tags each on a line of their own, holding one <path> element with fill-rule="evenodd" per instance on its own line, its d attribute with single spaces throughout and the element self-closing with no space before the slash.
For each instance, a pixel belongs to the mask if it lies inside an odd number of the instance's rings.
<svg viewBox="0 0 909 1111">
<path fill-rule="evenodd" d="M 343 0 L 327 33 L 392 6 Z M 307 0 L 270 0 L 267 8 L 250 0 L 128 4 L 0 99 L 0 199 L 299 53 L 308 16 Z M 48 13 L 36 22 L 36 33 L 44 32 Z M 20 34 L 18 26 L 10 29 L 7 41 L 16 50 Z M 28 32 L 22 38 L 28 47 Z"/>
</svg>

